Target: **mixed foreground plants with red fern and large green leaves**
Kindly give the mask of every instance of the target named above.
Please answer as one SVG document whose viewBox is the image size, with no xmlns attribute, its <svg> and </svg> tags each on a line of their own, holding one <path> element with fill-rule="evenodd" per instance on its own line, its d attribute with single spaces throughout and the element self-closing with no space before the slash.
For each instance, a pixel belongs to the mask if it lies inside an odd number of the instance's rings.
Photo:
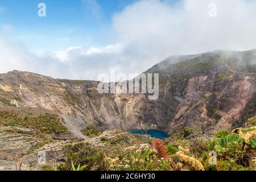
<svg viewBox="0 0 256 182">
<path fill-rule="evenodd" d="M 65 146 L 67 160 L 58 169 L 77 170 L 85 166 L 82 169 L 110 171 L 255 170 L 256 164 L 251 160 L 255 155 L 255 139 L 251 138 L 246 144 L 239 134 L 227 130 L 214 135 L 203 138 L 200 130 L 187 127 L 164 140 L 146 141 L 133 136 L 135 141 L 129 142 L 131 138 L 127 134 L 109 139 L 101 137 L 101 142 L 108 140 L 106 148 L 93 147 L 88 143 Z M 217 154 L 216 165 L 209 163 L 211 151 Z"/>
</svg>

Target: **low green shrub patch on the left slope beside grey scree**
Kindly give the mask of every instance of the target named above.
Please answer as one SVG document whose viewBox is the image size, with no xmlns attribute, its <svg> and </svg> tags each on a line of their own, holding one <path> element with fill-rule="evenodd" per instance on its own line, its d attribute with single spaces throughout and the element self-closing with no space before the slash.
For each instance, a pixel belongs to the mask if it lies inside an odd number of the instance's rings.
<svg viewBox="0 0 256 182">
<path fill-rule="evenodd" d="M 60 117 L 54 114 L 32 113 L 20 114 L 16 111 L 0 110 L 0 124 L 3 126 L 20 126 L 28 129 L 36 129 L 45 134 L 61 135 L 67 133 L 67 129 L 61 125 Z"/>
</svg>

